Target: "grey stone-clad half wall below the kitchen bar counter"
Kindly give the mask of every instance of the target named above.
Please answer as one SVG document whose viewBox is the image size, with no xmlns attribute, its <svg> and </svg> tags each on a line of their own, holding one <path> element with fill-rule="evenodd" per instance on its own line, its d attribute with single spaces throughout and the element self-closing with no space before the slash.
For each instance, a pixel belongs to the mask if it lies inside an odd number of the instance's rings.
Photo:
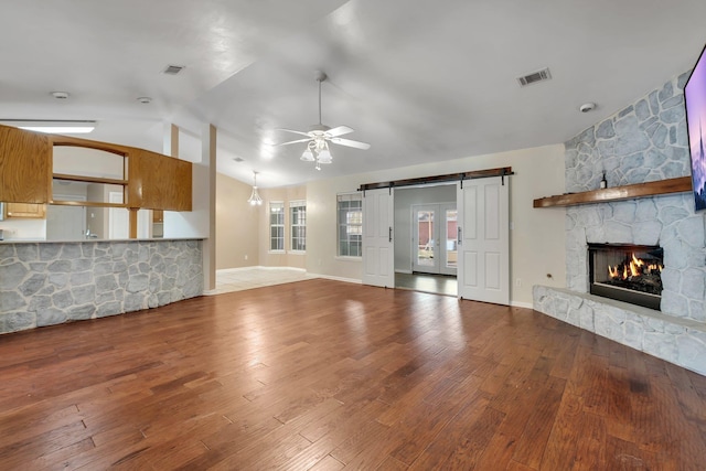
<svg viewBox="0 0 706 471">
<path fill-rule="evenodd" d="M 0 244 L 0 333 L 203 293 L 201 240 Z"/>
</svg>

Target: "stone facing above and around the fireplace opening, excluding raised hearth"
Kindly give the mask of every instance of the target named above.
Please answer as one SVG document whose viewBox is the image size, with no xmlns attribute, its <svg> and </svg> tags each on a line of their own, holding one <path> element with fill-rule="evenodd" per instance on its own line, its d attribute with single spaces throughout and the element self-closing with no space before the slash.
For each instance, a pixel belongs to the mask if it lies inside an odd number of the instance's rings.
<svg viewBox="0 0 706 471">
<path fill-rule="evenodd" d="M 566 191 L 687 176 L 684 113 L 688 73 L 588 128 L 566 146 Z M 588 292 L 587 243 L 664 248 L 662 312 L 706 323 L 706 220 L 691 193 L 570 206 L 566 218 L 567 288 Z"/>
</svg>

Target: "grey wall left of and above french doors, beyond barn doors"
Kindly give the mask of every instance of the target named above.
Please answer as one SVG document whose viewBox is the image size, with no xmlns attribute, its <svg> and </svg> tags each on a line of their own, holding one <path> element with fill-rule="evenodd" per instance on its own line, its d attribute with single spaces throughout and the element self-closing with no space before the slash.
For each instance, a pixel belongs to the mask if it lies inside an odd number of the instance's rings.
<svg viewBox="0 0 706 471">
<path fill-rule="evenodd" d="M 395 189 L 395 271 L 411 271 L 411 206 L 434 203 L 456 203 L 456 184 Z"/>
</svg>

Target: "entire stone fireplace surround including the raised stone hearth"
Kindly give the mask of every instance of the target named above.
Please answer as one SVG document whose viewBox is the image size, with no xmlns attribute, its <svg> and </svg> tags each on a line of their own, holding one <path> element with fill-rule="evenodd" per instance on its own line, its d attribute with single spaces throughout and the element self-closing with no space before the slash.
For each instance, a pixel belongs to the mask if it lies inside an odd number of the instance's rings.
<svg viewBox="0 0 706 471">
<path fill-rule="evenodd" d="M 689 175 L 687 77 L 566 142 L 566 191 L 597 189 L 603 171 L 609 186 Z M 534 287 L 534 309 L 706 375 L 705 225 L 691 193 L 569 206 L 567 289 Z M 662 246 L 662 312 L 588 295 L 588 243 Z"/>
</svg>

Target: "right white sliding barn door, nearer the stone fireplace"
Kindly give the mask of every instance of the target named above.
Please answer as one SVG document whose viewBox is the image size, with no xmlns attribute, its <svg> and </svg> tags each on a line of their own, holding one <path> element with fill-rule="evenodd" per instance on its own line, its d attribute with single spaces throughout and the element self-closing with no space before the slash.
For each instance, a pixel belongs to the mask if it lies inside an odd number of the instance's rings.
<svg viewBox="0 0 706 471">
<path fill-rule="evenodd" d="M 459 186 L 459 298 L 510 304 L 510 179 Z"/>
</svg>

